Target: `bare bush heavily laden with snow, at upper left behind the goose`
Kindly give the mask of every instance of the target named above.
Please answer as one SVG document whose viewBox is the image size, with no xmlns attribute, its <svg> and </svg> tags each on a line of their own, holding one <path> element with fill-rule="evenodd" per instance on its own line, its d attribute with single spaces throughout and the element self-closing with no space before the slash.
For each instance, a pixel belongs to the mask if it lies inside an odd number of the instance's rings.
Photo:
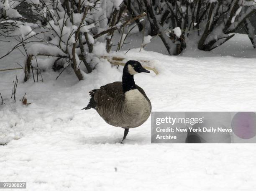
<svg viewBox="0 0 256 191">
<path fill-rule="evenodd" d="M 94 45 L 103 43 L 109 52 L 114 31 L 146 15 L 137 15 L 131 20 L 121 19 L 122 2 L 123 0 L 49 0 L 37 5 L 33 13 L 38 16 L 38 25 L 44 32 L 44 38 L 36 37 L 41 43 L 28 49 L 24 81 L 28 80 L 30 71 L 33 72 L 32 59 L 37 55 L 56 57 L 54 69 L 65 69 L 66 64 L 82 80 L 84 72 L 90 73 L 94 67 L 91 63 L 95 57 Z"/>
</svg>

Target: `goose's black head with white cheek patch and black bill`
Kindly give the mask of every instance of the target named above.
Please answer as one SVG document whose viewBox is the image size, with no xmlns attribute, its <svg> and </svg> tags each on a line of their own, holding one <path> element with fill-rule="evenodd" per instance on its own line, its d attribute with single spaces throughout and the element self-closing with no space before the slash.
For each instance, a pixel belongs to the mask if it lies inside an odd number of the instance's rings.
<svg viewBox="0 0 256 191">
<path fill-rule="evenodd" d="M 126 62 L 123 68 L 123 73 L 128 73 L 130 75 L 138 74 L 141 72 L 150 73 L 150 71 L 146 70 L 141 66 L 140 62 L 135 60 L 129 60 L 128 62 Z"/>
</svg>

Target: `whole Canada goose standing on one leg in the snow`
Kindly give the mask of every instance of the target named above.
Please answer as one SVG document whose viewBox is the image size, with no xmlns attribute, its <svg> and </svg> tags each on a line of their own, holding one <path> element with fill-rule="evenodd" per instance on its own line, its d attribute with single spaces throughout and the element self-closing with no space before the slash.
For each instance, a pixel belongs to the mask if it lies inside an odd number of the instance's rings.
<svg viewBox="0 0 256 191">
<path fill-rule="evenodd" d="M 82 109 L 94 108 L 105 122 L 124 128 L 123 140 L 129 128 L 142 125 L 151 113 L 150 100 L 133 79 L 134 74 L 141 72 L 150 73 L 138 61 L 128 61 L 123 68 L 122 81 L 115 81 L 89 92 L 90 102 Z"/>
</svg>

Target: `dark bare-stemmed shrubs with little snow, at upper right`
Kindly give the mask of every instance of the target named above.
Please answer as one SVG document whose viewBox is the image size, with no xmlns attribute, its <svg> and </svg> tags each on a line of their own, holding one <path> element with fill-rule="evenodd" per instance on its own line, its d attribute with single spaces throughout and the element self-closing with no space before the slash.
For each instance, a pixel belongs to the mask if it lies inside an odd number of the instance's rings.
<svg viewBox="0 0 256 191">
<path fill-rule="evenodd" d="M 197 47 L 210 51 L 233 37 L 245 24 L 255 42 L 255 32 L 247 18 L 256 12 L 255 0 L 124 0 L 131 15 L 147 13 L 147 31 L 159 36 L 171 55 L 177 55 L 195 41 Z M 247 20 L 247 21 L 246 21 Z M 138 27 L 143 26 L 137 21 Z M 181 30 L 181 34 L 177 30 Z M 177 33 L 178 32 L 178 33 Z M 178 34 L 178 35 L 177 35 Z M 195 44 L 189 43 L 189 44 Z"/>
</svg>

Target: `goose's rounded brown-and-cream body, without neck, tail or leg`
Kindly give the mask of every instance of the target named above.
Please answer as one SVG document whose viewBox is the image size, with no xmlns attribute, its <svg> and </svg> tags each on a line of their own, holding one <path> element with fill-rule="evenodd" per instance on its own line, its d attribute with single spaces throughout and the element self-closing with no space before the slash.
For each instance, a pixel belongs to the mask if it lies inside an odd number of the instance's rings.
<svg viewBox="0 0 256 191">
<path fill-rule="evenodd" d="M 95 110 L 110 125 L 134 128 L 142 125 L 149 117 L 151 103 L 141 87 L 136 85 L 123 93 L 123 84 L 116 81 L 95 90 Z"/>
</svg>

